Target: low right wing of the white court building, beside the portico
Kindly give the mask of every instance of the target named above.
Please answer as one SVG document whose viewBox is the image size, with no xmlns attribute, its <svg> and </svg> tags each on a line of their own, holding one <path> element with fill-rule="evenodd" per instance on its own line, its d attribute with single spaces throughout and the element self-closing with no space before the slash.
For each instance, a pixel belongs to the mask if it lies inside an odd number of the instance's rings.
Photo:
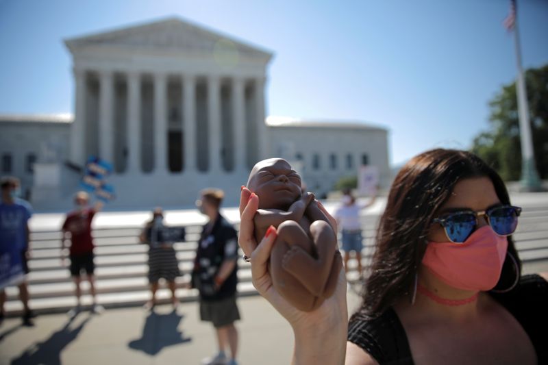
<svg viewBox="0 0 548 365">
<path fill-rule="evenodd" d="M 298 166 L 308 190 L 322 197 L 341 177 L 362 165 L 379 168 L 379 184 L 390 182 L 388 131 L 362 122 L 266 118 L 271 155 Z"/>
</svg>

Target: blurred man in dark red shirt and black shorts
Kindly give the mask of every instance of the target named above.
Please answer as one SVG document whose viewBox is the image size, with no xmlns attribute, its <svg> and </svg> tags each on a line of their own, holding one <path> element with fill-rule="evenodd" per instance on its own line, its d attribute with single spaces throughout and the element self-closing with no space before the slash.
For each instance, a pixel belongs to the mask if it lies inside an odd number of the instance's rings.
<svg viewBox="0 0 548 365">
<path fill-rule="evenodd" d="M 97 304 L 95 292 L 95 263 L 93 261 L 93 238 L 91 234 L 91 223 L 95 214 L 99 212 L 103 203 L 97 201 L 94 207 L 89 207 L 89 195 L 87 192 L 79 191 L 74 196 L 75 210 L 66 215 L 62 225 L 61 240 L 61 261 L 65 266 L 66 261 L 66 242 L 70 241 L 69 258 L 71 277 L 75 284 L 76 307 L 69 311 L 69 316 L 76 316 L 81 310 L 80 283 L 82 282 L 82 271 L 86 271 L 86 278 L 90 283 L 90 294 L 92 297 L 93 313 L 101 313 L 103 307 Z"/>
</svg>

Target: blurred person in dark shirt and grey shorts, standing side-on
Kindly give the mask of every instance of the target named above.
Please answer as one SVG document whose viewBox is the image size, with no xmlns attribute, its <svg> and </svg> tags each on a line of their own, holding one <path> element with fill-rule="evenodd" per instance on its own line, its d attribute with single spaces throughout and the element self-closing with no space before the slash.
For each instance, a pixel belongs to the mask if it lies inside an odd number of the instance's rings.
<svg viewBox="0 0 548 365">
<path fill-rule="evenodd" d="M 208 188 L 201 191 L 196 202 L 202 214 L 208 216 L 196 250 L 192 286 L 199 290 L 200 318 L 211 322 L 215 329 L 219 353 L 202 360 L 202 364 L 236 364 L 238 330 L 234 321 L 240 319 L 236 305 L 238 284 L 236 260 L 238 238 L 219 207 L 223 190 Z M 230 348 L 230 357 L 225 354 Z"/>
</svg>

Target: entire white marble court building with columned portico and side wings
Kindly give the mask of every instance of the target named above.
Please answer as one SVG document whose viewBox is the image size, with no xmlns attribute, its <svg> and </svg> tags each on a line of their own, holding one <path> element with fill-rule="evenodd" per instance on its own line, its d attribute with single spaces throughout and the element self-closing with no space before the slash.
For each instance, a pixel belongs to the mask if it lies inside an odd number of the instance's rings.
<svg viewBox="0 0 548 365">
<path fill-rule="evenodd" d="M 70 207 L 90 155 L 112 162 L 121 208 L 190 205 L 208 186 L 234 204 L 251 166 L 275 156 L 319 194 L 360 164 L 389 179 L 382 127 L 265 118 L 269 51 L 179 18 L 65 45 L 74 114 L 0 116 L 0 175 L 20 177 L 38 210 Z"/>
</svg>

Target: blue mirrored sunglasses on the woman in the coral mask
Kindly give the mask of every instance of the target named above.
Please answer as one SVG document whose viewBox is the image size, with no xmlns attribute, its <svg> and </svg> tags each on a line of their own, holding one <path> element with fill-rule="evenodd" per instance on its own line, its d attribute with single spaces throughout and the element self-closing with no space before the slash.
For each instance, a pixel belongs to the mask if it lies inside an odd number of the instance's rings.
<svg viewBox="0 0 548 365">
<path fill-rule="evenodd" d="M 516 230 L 519 214 L 521 214 L 521 207 L 499 205 L 481 212 L 462 210 L 444 214 L 434 218 L 434 223 L 439 223 L 445 229 L 445 234 L 451 242 L 462 243 L 475 231 L 479 216 L 486 216 L 487 223 L 496 234 L 509 236 Z"/>
</svg>

